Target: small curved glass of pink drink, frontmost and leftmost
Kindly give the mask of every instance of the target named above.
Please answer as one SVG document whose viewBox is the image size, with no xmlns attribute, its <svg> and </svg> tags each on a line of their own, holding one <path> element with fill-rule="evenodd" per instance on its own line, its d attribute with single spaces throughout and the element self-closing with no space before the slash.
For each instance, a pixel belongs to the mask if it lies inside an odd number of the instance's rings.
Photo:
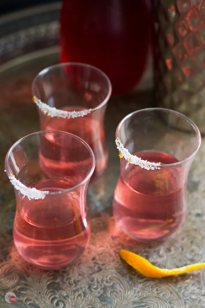
<svg viewBox="0 0 205 308">
<path fill-rule="evenodd" d="M 13 236 L 20 255 L 49 270 L 76 262 L 90 238 L 86 193 L 95 157 L 89 145 L 66 132 L 36 132 L 10 148 L 5 168 L 25 187 L 48 191 L 44 199 L 29 200 L 14 186 Z"/>
</svg>

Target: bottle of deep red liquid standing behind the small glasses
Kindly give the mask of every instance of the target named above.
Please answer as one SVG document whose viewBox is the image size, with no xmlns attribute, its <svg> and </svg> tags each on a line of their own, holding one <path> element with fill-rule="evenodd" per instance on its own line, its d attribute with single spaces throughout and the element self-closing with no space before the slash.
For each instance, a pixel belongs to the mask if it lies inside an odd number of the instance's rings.
<svg viewBox="0 0 205 308">
<path fill-rule="evenodd" d="M 61 62 L 99 67 L 110 78 L 114 95 L 131 91 L 147 64 L 149 6 L 149 0 L 64 0 Z"/>
</svg>

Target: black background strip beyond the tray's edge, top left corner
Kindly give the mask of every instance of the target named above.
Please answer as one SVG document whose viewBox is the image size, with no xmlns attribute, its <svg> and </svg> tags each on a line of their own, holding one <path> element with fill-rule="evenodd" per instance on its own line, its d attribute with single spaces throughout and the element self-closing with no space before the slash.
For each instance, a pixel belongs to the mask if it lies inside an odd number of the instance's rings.
<svg viewBox="0 0 205 308">
<path fill-rule="evenodd" d="M 0 0 L 0 15 L 52 2 L 57 0 Z"/>
</svg>

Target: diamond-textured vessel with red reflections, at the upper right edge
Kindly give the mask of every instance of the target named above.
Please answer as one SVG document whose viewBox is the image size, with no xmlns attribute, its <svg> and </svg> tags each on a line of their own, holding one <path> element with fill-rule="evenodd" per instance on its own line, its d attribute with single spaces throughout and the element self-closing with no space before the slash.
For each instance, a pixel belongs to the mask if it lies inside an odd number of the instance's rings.
<svg viewBox="0 0 205 308">
<path fill-rule="evenodd" d="M 152 1 L 156 102 L 205 133 L 204 0 Z"/>
</svg>

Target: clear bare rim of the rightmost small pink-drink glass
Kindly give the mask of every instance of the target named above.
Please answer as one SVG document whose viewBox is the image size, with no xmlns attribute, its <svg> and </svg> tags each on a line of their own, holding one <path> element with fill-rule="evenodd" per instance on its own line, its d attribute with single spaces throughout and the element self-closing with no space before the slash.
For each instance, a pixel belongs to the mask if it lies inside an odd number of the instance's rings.
<svg viewBox="0 0 205 308">
<path fill-rule="evenodd" d="M 140 112 L 148 112 L 148 111 L 163 111 L 164 113 L 169 113 L 169 114 L 173 114 L 173 115 L 176 115 L 180 118 L 183 118 L 184 120 L 186 120 L 191 126 L 192 128 L 195 130 L 195 133 L 196 133 L 196 136 L 197 136 L 197 145 L 196 145 L 196 148 L 195 150 L 189 155 L 187 156 L 185 159 L 183 160 L 179 160 L 178 162 L 176 163 L 172 163 L 172 164 L 160 164 L 160 168 L 165 168 L 165 167 L 173 167 L 173 166 L 177 166 L 177 165 L 180 165 L 180 164 L 183 164 L 185 162 L 187 162 L 188 160 L 190 160 L 192 157 L 194 157 L 196 155 L 196 153 L 198 152 L 199 148 L 200 148 L 200 145 L 201 145 L 201 133 L 199 131 L 199 128 L 196 126 L 196 124 L 190 119 L 188 118 L 186 115 L 183 115 L 182 113 L 178 112 L 178 111 L 174 111 L 172 109 L 167 109 L 167 108 L 157 108 L 157 107 L 154 107 L 154 108 L 144 108 L 144 109 L 139 109 L 139 110 L 136 110 L 136 111 L 133 111 L 131 113 L 129 113 L 128 115 L 126 115 L 121 121 L 120 123 L 117 125 L 117 128 L 116 128 L 116 138 L 118 137 L 118 133 L 119 133 L 119 130 L 120 130 L 120 127 L 122 126 L 122 124 L 128 120 L 129 118 L 131 118 L 133 115 L 136 115 Z"/>
</svg>

